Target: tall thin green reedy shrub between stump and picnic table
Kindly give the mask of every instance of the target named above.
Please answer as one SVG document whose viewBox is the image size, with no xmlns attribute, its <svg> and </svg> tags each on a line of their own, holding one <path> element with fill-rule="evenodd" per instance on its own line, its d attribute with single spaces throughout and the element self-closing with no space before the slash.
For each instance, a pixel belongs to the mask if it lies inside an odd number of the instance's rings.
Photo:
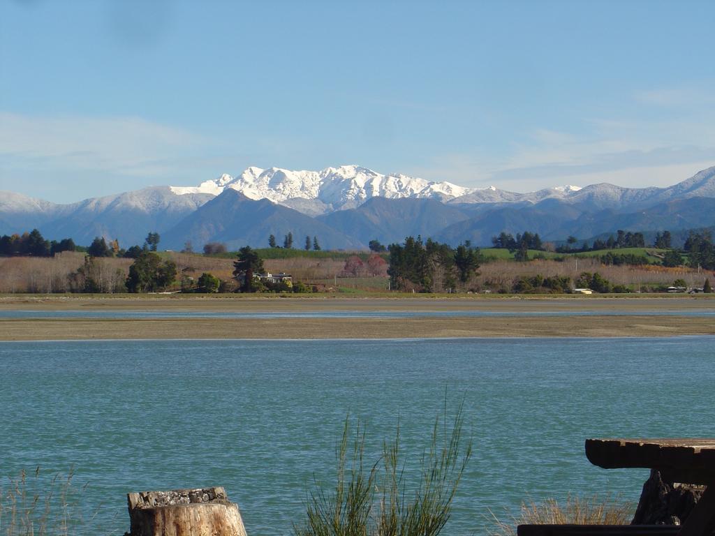
<svg viewBox="0 0 715 536">
<path fill-rule="evenodd" d="M 295 536 L 435 536 L 448 522 L 460 479 L 472 453 L 463 439 L 463 407 L 449 429 L 445 415 L 435 419 L 430 444 L 420 459 L 418 482 L 406 477 L 400 425 L 372 465 L 365 465 L 365 430 L 360 422 L 348 448 L 346 418 L 337 447 L 337 480 L 326 491 L 315 481 L 307 495 L 305 522 L 293 525 Z M 348 452 L 351 452 L 350 457 Z M 415 484 L 410 490 L 410 483 Z"/>
</svg>

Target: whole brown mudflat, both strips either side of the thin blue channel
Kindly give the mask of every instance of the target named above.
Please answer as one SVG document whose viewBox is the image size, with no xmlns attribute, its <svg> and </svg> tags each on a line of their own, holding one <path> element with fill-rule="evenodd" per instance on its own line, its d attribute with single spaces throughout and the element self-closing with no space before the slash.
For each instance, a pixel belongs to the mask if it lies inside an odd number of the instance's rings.
<svg viewBox="0 0 715 536">
<path fill-rule="evenodd" d="M 121 318 L 91 312 L 121 311 Z M 672 337 L 713 335 L 715 299 L 696 297 L 4 296 L 0 312 L 84 311 L 0 319 L 0 340 L 384 339 L 421 337 Z M 132 311 L 151 311 L 134 318 Z M 410 317 L 192 318 L 191 312 L 410 312 Z M 498 312 L 465 316 L 460 312 Z M 167 317 L 161 313 L 166 312 Z M 187 317 L 169 317 L 174 312 Z M 450 313 L 438 317 L 420 312 Z M 549 316 L 548 313 L 559 313 Z M 573 312 L 573 316 L 568 314 Z M 588 314 L 583 314 L 588 312 Z M 129 313 L 129 314 L 127 314 Z M 528 316 L 524 316 L 528 313 Z M 543 314 L 540 314 L 543 313 Z M 566 314 L 564 314 L 566 313 Z M 622 313 L 622 314 L 619 314 Z"/>
</svg>

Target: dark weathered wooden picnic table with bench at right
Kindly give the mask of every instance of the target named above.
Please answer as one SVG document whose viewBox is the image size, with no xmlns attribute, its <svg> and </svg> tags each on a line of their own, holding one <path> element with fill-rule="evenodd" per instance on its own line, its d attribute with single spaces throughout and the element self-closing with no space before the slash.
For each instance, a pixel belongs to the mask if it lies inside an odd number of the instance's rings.
<svg viewBox="0 0 715 536">
<path fill-rule="evenodd" d="M 715 530 L 715 439 L 586 440 L 586 457 L 598 467 L 644 467 L 664 480 L 706 485 L 679 525 L 519 525 L 518 536 L 711 536 Z"/>
</svg>

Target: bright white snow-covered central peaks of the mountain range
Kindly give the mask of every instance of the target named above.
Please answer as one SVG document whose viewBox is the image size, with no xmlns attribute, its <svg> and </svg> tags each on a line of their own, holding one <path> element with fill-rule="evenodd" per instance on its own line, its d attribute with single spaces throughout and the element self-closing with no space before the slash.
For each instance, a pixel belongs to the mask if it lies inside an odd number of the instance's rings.
<svg viewBox="0 0 715 536">
<path fill-rule="evenodd" d="M 231 188 L 249 199 L 269 199 L 307 214 L 352 209 L 373 197 L 448 201 L 473 189 L 451 182 L 430 182 L 403 174 L 381 174 L 360 166 L 328 167 L 319 172 L 249 167 L 238 177 L 223 174 L 197 187 L 172 187 L 174 194 L 217 195 Z"/>
</svg>

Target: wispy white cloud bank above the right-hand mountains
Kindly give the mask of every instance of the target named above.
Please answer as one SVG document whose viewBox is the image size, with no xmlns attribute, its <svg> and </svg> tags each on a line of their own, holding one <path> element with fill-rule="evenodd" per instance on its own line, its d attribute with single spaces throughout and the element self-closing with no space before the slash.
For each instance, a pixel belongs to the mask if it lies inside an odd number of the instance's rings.
<svg viewBox="0 0 715 536">
<path fill-rule="evenodd" d="M 666 186 L 715 165 L 715 94 L 701 86 L 654 89 L 632 102 L 632 116 L 583 118 L 573 131 L 533 129 L 496 157 L 475 148 L 442 155 L 419 171 L 524 192 L 567 183 Z"/>
</svg>

